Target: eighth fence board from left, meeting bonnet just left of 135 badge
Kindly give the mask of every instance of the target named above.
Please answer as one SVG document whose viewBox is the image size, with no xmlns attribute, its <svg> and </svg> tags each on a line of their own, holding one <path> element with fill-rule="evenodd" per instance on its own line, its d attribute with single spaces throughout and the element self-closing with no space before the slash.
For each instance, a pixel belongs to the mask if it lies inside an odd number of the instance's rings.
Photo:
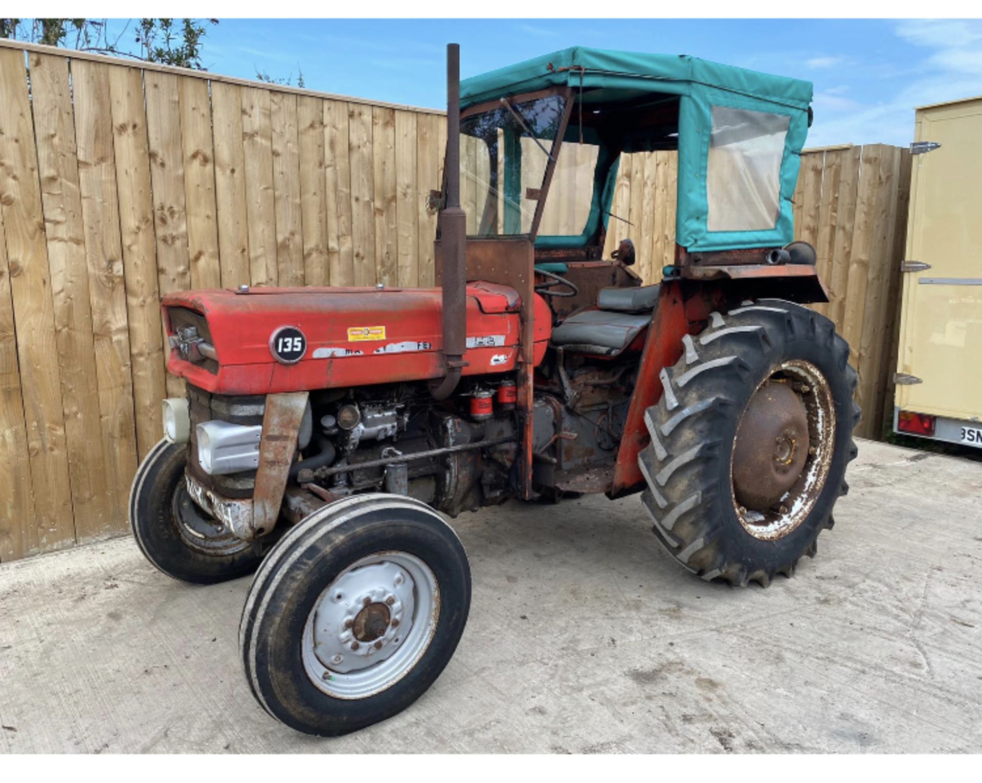
<svg viewBox="0 0 982 783">
<path fill-rule="evenodd" d="M 275 286 L 279 271 L 269 90 L 243 87 L 242 103 L 249 278 L 253 286 Z"/>
</svg>

